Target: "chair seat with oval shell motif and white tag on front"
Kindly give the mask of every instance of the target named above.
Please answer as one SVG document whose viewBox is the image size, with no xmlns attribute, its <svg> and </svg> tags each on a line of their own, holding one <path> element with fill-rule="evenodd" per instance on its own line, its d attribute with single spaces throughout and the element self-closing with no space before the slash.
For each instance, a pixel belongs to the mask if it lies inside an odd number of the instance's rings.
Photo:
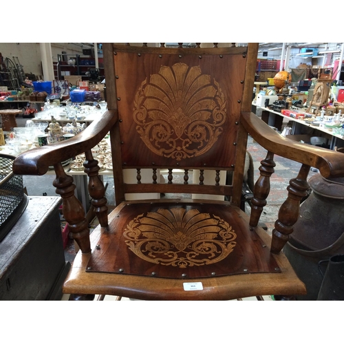
<svg viewBox="0 0 344 344">
<path fill-rule="evenodd" d="M 250 230 L 229 202 L 122 202 L 91 240 L 92 252 L 76 255 L 65 293 L 173 300 L 305 293 L 283 253 L 270 253 L 270 236 Z M 184 290 L 193 282 L 200 290 Z"/>
</svg>

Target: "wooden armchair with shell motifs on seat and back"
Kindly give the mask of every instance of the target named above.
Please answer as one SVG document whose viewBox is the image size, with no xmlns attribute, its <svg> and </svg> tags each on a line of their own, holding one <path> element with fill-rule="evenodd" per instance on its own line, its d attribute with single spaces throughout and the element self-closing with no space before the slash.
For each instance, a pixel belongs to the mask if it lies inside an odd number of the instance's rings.
<svg viewBox="0 0 344 344">
<path fill-rule="evenodd" d="M 168 48 L 164 43 L 104 43 L 103 49 L 108 111 L 78 136 L 27 151 L 13 165 L 18 174 L 43 175 L 52 165 L 56 171 L 56 193 L 80 247 L 63 292 L 75 299 L 111 294 L 150 300 L 305 294 L 281 250 L 299 217 L 310 166 L 326 178 L 343 177 L 344 155 L 283 138 L 250 113 L 258 44 Z M 108 132 L 116 195 L 111 213 L 92 156 Z M 248 134 L 267 150 L 250 216 L 239 208 Z M 100 222 L 91 235 L 83 206 L 74 197 L 73 178 L 61 164 L 83 152 Z M 301 169 L 290 180 L 271 237 L 258 222 L 270 191 L 274 154 L 300 162 Z M 169 171 L 165 183 L 161 169 Z M 173 182 L 175 169 L 184 170 L 182 183 Z M 133 182 L 129 171 L 135 171 Z M 233 172 L 229 185 L 226 171 Z M 192 197 L 142 199 L 147 193 Z"/>
</svg>

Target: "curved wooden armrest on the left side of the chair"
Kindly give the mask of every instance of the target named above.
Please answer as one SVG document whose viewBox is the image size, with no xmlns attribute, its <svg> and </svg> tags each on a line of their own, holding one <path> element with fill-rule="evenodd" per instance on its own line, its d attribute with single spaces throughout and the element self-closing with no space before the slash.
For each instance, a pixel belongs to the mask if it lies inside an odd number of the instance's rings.
<svg viewBox="0 0 344 344">
<path fill-rule="evenodd" d="M 96 146 L 118 120 L 118 112 L 106 111 L 94 120 L 85 130 L 74 138 L 62 142 L 47 144 L 21 153 L 13 162 L 12 171 L 18 175 L 43 175 L 49 166 L 63 162 L 84 153 Z"/>
</svg>

